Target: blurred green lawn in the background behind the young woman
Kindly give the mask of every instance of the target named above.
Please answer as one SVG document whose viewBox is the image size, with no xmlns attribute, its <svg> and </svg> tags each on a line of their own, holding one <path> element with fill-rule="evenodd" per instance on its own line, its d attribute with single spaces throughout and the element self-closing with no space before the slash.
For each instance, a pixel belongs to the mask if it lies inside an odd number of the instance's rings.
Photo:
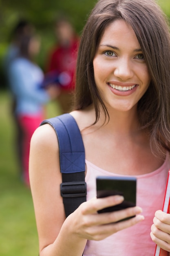
<svg viewBox="0 0 170 256">
<path fill-rule="evenodd" d="M 60 114 L 56 103 L 47 117 Z M 10 97 L 0 91 L 0 256 L 38 256 L 38 235 L 31 191 L 20 181 L 15 156 Z"/>
</svg>

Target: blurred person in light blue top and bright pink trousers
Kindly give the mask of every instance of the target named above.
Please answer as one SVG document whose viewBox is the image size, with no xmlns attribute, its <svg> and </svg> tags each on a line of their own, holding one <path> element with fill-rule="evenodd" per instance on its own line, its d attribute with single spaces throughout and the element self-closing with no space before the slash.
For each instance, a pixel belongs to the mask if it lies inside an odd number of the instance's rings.
<svg viewBox="0 0 170 256">
<path fill-rule="evenodd" d="M 8 67 L 9 83 L 15 95 L 15 115 L 22 130 L 23 181 L 29 186 L 29 144 L 34 130 L 44 119 L 44 104 L 57 96 L 57 87 L 40 88 L 44 79 L 41 68 L 34 63 L 40 49 L 40 38 L 22 35 L 17 56 Z"/>
</svg>

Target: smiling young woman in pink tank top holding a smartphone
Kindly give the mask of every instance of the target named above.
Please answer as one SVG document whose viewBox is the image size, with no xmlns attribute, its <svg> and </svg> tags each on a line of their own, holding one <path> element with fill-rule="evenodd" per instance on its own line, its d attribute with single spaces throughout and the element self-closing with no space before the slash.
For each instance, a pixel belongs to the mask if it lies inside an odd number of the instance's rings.
<svg viewBox="0 0 170 256">
<path fill-rule="evenodd" d="M 45 124 L 31 139 L 40 256 L 153 256 L 155 243 L 168 256 L 170 215 L 160 209 L 170 169 L 169 85 L 170 34 L 157 4 L 99 0 L 82 33 L 70 113 L 85 147 L 87 202 L 67 218 L 55 131 Z M 98 175 L 137 177 L 137 207 L 98 214 L 123 200 L 97 199 Z"/>
</svg>

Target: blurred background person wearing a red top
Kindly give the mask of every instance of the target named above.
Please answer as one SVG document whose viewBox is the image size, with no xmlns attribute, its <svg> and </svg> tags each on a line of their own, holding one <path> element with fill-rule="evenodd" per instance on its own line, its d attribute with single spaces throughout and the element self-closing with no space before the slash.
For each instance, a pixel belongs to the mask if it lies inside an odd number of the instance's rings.
<svg viewBox="0 0 170 256">
<path fill-rule="evenodd" d="M 71 22 L 66 18 L 59 18 L 55 22 L 55 36 L 57 43 L 49 53 L 47 61 L 47 76 L 56 77 L 60 86 L 57 97 L 62 113 L 71 110 L 73 91 L 75 88 L 75 67 L 79 38 Z"/>
</svg>

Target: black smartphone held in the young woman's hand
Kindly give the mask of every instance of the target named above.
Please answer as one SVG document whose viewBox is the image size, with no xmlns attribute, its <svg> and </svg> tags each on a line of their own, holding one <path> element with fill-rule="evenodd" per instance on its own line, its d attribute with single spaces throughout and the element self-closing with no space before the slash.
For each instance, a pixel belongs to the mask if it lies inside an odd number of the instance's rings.
<svg viewBox="0 0 170 256">
<path fill-rule="evenodd" d="M 96 178 L 97 198 L 104 198 L 109 195 L 124 196 L 124 201 L 121 204 L 104 208 L 98 213 L 119 211 L 136 206 L 136 186 L 137 179 L 135 177 L 98 176 Z"/>
</svg>

